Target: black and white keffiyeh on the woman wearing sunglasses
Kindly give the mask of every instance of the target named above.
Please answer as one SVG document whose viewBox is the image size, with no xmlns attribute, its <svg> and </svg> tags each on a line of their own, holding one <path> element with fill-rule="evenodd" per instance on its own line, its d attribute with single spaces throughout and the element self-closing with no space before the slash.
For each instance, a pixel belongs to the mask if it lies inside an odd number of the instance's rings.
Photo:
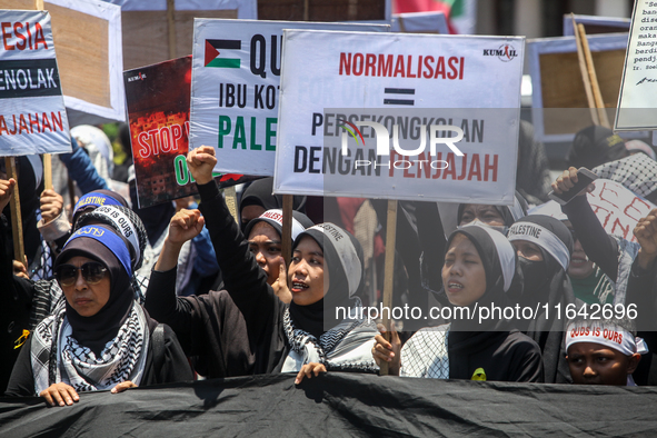
<svg viewBox="0 0 657 438">
<path fill-rule="evenodd" d="M 146 315 L 138 303 L 98 357 L 73 338 L 66 307 L 60 306 L 33 332 L 30 357 L 34 392 L 56 382 L 68 384 L 78 392 L 111 389 L 126 380 L 139 385 L 148 344 Z"/>
</svg>

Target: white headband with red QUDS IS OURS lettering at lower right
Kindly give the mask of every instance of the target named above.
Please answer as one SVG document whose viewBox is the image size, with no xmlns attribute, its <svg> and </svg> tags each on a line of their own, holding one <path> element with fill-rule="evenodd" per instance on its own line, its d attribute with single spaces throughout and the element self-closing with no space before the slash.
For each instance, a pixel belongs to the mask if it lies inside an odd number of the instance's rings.
<svg viewBox="0 0 657 438">
<path fill-rule="evenodd" d="M 594 342 L 613 348 L 626 356 L 634 354 L 644 355 L 648 347 L 641 338 L 617 326 L 598 327 L 587 325 L 569 325 L 566 332 L 566 350 L 577 342 Z"/>
</svg>

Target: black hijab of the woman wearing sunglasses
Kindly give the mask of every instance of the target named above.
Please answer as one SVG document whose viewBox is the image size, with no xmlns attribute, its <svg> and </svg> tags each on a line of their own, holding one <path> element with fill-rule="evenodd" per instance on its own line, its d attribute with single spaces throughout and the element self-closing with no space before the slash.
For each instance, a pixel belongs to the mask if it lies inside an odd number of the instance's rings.
<svg viewBox="0 0 657 438">
<path fill-rule="evenodd" d="M 110 227 L 104 225 L 92 227 L 115 233 Z M 135 301 L 135 291 L 130 286 L 130 273 L 115 255 L 115 251 L 93 238 L 79 236 L 78 232 L 71 236 L 61 253 L 57 257 L 53 269 L 67 263 L 76 256 L 83 256 L 101 262 L 109 270 L 110 297 L 98 313 L 91 317 L 82 317 L 70 307 L 68 300 L 66 301 L 67 318 L 71 325 L 73 337 L 80 345 L 89 347 L 96 355 L 99 355 L 104 345 L 117 336 L 119 328 L 128 318 Z M 125 238 L 118 233 L 115 233 L 115 236 L 123 241 L 128 250 L 128 242 L 125 241 Z"/>
</svg>

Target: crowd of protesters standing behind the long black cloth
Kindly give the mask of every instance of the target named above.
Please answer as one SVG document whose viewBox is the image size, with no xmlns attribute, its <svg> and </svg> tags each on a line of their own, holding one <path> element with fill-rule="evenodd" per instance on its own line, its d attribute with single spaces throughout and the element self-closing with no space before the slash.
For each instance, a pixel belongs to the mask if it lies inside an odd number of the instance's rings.
<svg viewBox="0 0 657 438">
<path fill-rule="evenodd" d="M 127 128 L 119 133 L 129 151 Z M 384 362 L 401 378 L 657 381 L 657 330 L 649 329 L 657 210 L 619 237 L 589 205 L 593 186 L 573 193 L 584 167 L 655 201 L 657 162 L 644 142 L 586 128 L 568 168 L 551 180 L 544 147 L 524 121 L 512 206 L 454 206 L 452 230 L 437 203 L 400 202 L 396 248 L 385 248 L 380 201 L 295 197 L 286 263 L 282 199 L 271 179 L 243 190 L 236 219 L 212 178 L 215 149 L 201 147 L 187 157 L 197 199 L 138 209 L 131 158 L 115 166 L 111 142 L 96 127 L 71 135 L 72 152 L 53 170 L 64 183 L 43 190 L 38 156 L 18 158 L 17 179 L 0 175 L 7 396 L 66 406 L 82 391 L 273 372 L 293 372 L 300 385 L 322 372 L 377 374 Z M 13 256 L 17 187 L 24 260 Z M 546 215 L 550 190 L 577 196 Z M 377 326 L 362 307 L 381 300 L 384 248 L 399 256 L 394 303 L 537 312 Z M 596 303 L 640 311 L 578 311 Z"/>
</svg>

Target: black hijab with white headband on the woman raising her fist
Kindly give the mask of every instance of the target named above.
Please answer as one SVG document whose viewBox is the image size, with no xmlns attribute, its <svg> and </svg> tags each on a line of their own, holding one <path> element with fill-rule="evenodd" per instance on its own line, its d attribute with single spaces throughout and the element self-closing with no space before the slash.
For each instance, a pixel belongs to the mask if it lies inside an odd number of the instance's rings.
<svg viewBox="0 0 657 438">
<path fill-rule="evenodd" d="M 319 339 L 326 329 L 340 322 L 336 319 L 336 307 L 350 308 L 365 287 L 362 247 L 351 233 L 330 222 L 297 236 L 292 249 L 303 237 L 310 237 L 321 248 L 330 282 L 323 298 L 312 305 L 298 306 L 292 300 L 290 318 L 297 327 Z"/>
</svg>

